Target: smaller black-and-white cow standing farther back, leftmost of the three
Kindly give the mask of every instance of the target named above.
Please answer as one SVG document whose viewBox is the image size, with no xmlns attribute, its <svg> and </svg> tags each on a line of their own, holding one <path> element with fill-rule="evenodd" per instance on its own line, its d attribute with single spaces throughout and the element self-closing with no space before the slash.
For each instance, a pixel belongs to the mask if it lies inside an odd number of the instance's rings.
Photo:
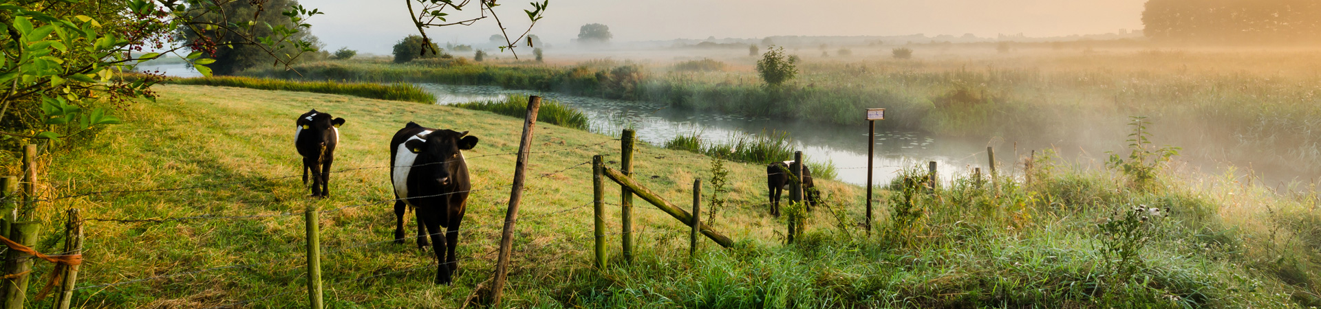
<svg viewBox="0 0 1321 309">
<path fill-rule="evenodd" d="M 308 185 L 308 170 L 312 172 L 312 195 L 330 195 L 330 164 L 334 162 L 334 148 L 339 144 L 342 118 L 312 110 L 299 116 L 293 129 L 293 147 L 303 156 L 303 185 Z"/>
</svg>

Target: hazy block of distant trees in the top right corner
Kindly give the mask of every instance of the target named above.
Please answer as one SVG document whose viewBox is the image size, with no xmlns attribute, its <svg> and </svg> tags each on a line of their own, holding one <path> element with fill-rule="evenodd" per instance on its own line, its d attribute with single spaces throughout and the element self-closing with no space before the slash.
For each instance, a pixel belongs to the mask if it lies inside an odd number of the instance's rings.
<svg viewBox="0 0 1321 309">
<path fill-rule="evenodd" d="M 1147 37 L 1157 41 L 1321 42 L 1317 0 L 1148 0 Z"/>
</svg>

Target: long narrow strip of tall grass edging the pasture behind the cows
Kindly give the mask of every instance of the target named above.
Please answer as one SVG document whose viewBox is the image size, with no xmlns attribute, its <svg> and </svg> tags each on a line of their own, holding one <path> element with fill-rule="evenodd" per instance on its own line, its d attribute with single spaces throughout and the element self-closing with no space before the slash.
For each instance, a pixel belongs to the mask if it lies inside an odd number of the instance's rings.
<svg viewBox="0 0 1321 309">
<path fill-rule="evenodd" d="M 304 91 L 317 94 L 342 94 L 382 100 L 407 100 L 436 103 L 436 96 L 411 83 L 361 83 L 361 82 L 299 82 L 250 77 L 202 77 L 174 78 L 165 83 L 243 87 L 259 90 Z"/>
</svg>

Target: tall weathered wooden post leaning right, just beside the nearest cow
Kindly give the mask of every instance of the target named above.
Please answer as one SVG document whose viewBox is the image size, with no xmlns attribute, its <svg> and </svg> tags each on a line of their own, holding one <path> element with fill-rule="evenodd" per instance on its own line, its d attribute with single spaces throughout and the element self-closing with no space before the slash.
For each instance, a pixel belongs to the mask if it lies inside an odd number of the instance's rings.
<svg viewBox="0 0 1321 309">
<path fill-rule="evenodd" d="M 532 128 L 536 125 L 536 112 L 542 110 L 542 96 L 527 98 L 527 116 L 523 120 L 523 139 L 518 143 L 518 161 L 514 165 L 514 185 L 509 194 L 509 210 L 505 211 L 505 231 L 499 238 L 499 259 L 495 261 L 495 276 L 491 280 L 491 305 L 499 306 L 505 292 L 505 276 L 509 258 L 514 247 L 514 223 L 518 222 L 518 202 L 523 199 L 523 178 L 527 170 L 527 157 L 532 148 Z"/>
</svg>

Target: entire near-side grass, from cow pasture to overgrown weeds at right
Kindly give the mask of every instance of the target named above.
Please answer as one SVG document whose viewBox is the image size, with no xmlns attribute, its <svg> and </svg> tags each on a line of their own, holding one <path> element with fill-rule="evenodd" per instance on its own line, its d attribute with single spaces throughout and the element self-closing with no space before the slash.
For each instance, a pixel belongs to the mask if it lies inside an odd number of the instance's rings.
<svg viewBox="0 0 1321 309">
<path fill-rule="evenodd" d="M 330 308 L 458 308 L 489 277 L 519 119 L 343 95 L 173 85 L 157 90 L 156 102 L 123 112 L 125 124 L 102 132 L 82 151 L 54 157 L 45 191 L 192 189 L 42 203 L 38 214 L 48 224 L 38 250 L 53 252 L 61 243 L 58 214 L 66 207 L 94 219 L 201 218 L 89 221 L 81 287 L 125 284 L 79 291 L 79 306 L 303 306 L 306 207 L 325 210 L 322 276 Z M 310 108 L 347 119 L 334 169 L 354 170 L 332 176 L 326 199 L 309 199 L 297 177 L 280 178 L 299 172 L 292 119 Z M 435 267 L 428 252 L 388 243 L 394 214 L 390 203 L 379 202 L 392 198 L 382 168 L 388 164 L 384 137 L 410 120 L 481 139 L 465 154 L 480 190 L 469 199 L 458 247 L 462 269 L 452 287 L 431 284 Z M 933 194 L 915 184 L 893 185 L 877 194 L 872 234 L 859 228 L 861 188 L 818 181 L 830 206 L 808 215 L 794 246 L 779 244 L 785 222 L 766 215 L 764 166 L 727 164 L 731 191 L 713 227 L 733 238 L 734 248 L 704 240 L 690 260 L 683 224 L 635 199 L 638 260 L 629 265 L 620 260 L 613 234 L 618 211 L 612 206 L 606 211 L 612 267 L 596 271 L 585 162 L 606 154 L 616 165 L 618 141 L 555 125 L 539 127 L 535 140 L 506 287 L 509 308 L 1321 302 L 1313 288 L 1321 269 L 1314 188 L 1276 191 L 1234 176 L 1162 173 L 1157 189 L 1136 190 L 1122 174 L 1049 156 L 1038 157 L 1030 182 L 1008 165 L 1004 170 L 1015 176 L 999 178 L 997 185 L 945 180 Z M 709 166 L 700 154 L 643 145 L 634 170 L 671 202 L 687 205 L 687 188 L 694 178 L 709 178 Z M 618 202 L 617 188 L 606 195 Z M 1169 217 L 1125 215 L 1139 205 L 1166 209 Z M 206 271 L 227 265 L 243 267 Z M 46 269 L 38 264 L 36 273 Z M 161 275 L 178 276 L 133 281 Z"/>
</svg>

